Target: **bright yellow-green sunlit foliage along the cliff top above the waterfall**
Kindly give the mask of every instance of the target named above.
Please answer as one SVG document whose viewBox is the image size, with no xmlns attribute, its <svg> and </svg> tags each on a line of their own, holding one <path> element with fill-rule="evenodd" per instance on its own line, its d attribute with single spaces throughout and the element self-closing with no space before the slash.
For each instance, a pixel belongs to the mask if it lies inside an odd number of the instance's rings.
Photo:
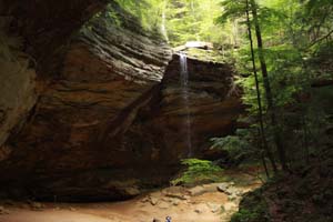
<svg viewBox="0 0 333 222">
<path fill-rule="evenodd" d="M 172 47 L 186 41 L 228 47 L 239 44 L 238 22 L 223 28 L 215 22 L 222 11 L 218 0 L 114 0 L 110 4 L 107 11 L 97 16 L 104 13 L 105 18 L 121 26 L 125 21 L 119 13 L 125 11 L 145 31 L 164 36 Z"/>
</svg>

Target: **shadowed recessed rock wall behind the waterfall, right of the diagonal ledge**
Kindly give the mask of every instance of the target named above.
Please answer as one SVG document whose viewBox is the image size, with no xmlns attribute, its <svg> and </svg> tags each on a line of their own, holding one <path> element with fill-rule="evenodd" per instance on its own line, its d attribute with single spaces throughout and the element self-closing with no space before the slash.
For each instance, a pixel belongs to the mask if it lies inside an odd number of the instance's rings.
<svg viewBox="0 0 333 222">
<path fill-rule="evenodd" d="M 149 161 L 164 168 L 172 168 L 184 158 L 205 157 L 211 147 L 210 139 L 233 133 L 244 109 L 230 64 L 189 58 L 188 69 L 189 108 L 184 104 L 180 59 L 174 54 L 159 91 L 122 135 L 128 147 L 138 153 L 149 151 Z"/>
</svg>

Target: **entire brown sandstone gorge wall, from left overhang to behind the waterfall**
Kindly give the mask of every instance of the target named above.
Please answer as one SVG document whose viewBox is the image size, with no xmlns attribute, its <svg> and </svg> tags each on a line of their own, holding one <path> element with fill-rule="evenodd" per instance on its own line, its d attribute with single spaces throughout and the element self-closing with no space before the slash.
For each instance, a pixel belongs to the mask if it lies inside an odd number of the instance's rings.
<svg viewBox="0 0 333 222">
<path fill-rule="evenodd" d="M 1 74 L 1 193 L 120 200 L 168 182 L 188 152 L 179 57 L 115 3 L 109 10 L 121 23 L 104 12 L 87 21 L 102 1 L 80 4 L 85 16 L 69 13 L 78 1 L 39 2 L 48 10 L 37 16 L 8 4 L 26 12 L 11 20 L 26 23 L 3 36 L 27 46 L 7 46 L 14 59 L 1 60 L 13 72 Z M 230 65 L 189 59 L 189 72 L 191 138 L 201 157 L 209 138 L 232 132 L 242 105 Z"/>
</svg>

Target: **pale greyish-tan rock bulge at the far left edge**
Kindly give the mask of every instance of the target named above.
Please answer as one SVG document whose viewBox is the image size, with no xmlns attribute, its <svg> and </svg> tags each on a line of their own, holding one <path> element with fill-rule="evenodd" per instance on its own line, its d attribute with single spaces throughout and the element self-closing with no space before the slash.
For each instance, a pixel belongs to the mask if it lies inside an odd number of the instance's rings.
<svg viewBox="0 0 333 222">
<path fill-rule="evenodd" d="M 2 144 L 20 131 L 37 101 L 36 72 L 21 51 L 22 39 L 9 37 L 6 24 L 0 22 L 0 161 L 11 152 Z"/>
</svg>

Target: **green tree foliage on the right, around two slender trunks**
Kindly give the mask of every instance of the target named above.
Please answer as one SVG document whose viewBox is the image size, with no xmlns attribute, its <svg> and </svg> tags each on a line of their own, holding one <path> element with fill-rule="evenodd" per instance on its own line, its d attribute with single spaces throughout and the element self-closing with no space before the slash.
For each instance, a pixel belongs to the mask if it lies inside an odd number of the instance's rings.
<svg viewBox="0 0 333 222">
<path fill-rule="evenodd" d="M 248 1 L 252 2 L 252 1 Z M 262 100 L 264 131 L 268 144 L 276 155 L 275 147 L 272 145 L 273 132 L 278 131 L 284 139 L 290 163 L 303 162 L 309 158 L 312 148 L 315 148 L 320 140 L 325 138 L 323 125 L 330 125 L 326 117 L 332 117 L 332 111 L 325 109 L 326 102 L 320 95 L 319 90 L 312 89 L 311 84 L 317 80 L 332 80 L 332 49 L 333 49 L 333 2 L 323 1 L 290 1 L 290 0 L 256 0 L 259 11 L 259 23 L 264 43 L 264 59 L 268 67 L 269 80 L 271 83 L 274 110 L 276 112 L 278 124 L 270 124 L 266 100 Z M 218 22 L 223 26 L 238 21 L 246 24 L 245 0 L 222 1 L 223 11 L 218 18 Z M 287 7 L 285 7 L 287 6 Z M 253 17 L 250 9 L 250 27 L 255 36 Z M 245 26 L 244 26 L 245 27 Z M 259 105 L 255 90 L 255 81 L 252 74 L 252 57 L 246 32 L 243 33 L 243 41 L 240 49 L 233 52 L 239 73 L 243 73 L 238 79 L 238 83 L 243 89 L 243 103 L 249 112 L 248 122 L 252 125 L 251 137 L 248 140 L 251 148 L 259 145 L 258 130 Z M 255 37 L 254 40 L 255 41 Z M 255 46 L 254 46 L 255 47 Z M 259 51 L 254 51 L 256 68 L 260 68 Z M 259 73 L 259 84 L 262 98 L 265 97 L 262 73 Z M 329 97 L 332 89 L 324 92 Z M 331 97 L 330 97 L 331 98 Z M 319 127 L 322 125 L 322 127 Z M 322 140 L 322 141 L 323 141 Z M 225 138 L 223 143 L 234 144 L 235 138 Z M 225 145 L 228 148 L 228 145 Z M 243 148 L 248 149 L 248 148 Z M 238 150 L 240 152 L 240 150 Z M 260 153 L 256 149 L 253 152 Z M 300 157 L 303 157 L 300 158 Z M 302 160 L 302 161 L 300 161 Z"/>
</svg>

